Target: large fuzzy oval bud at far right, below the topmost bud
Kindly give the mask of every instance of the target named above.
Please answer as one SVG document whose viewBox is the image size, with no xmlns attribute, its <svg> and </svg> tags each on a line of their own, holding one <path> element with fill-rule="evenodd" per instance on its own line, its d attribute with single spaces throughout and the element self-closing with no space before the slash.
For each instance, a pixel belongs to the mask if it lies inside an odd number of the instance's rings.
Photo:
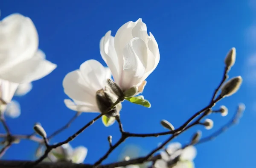
<svg viewBox="0 0 256 168">
<path fill-rule="evenodd" d="M 221 88 L 221 97 L 230 96 L 236 93 L 239 90 L 242 81 L 243 79 L 241 76 L 236 76 L 227 81 L 227 83 Z"/>
</svg>

